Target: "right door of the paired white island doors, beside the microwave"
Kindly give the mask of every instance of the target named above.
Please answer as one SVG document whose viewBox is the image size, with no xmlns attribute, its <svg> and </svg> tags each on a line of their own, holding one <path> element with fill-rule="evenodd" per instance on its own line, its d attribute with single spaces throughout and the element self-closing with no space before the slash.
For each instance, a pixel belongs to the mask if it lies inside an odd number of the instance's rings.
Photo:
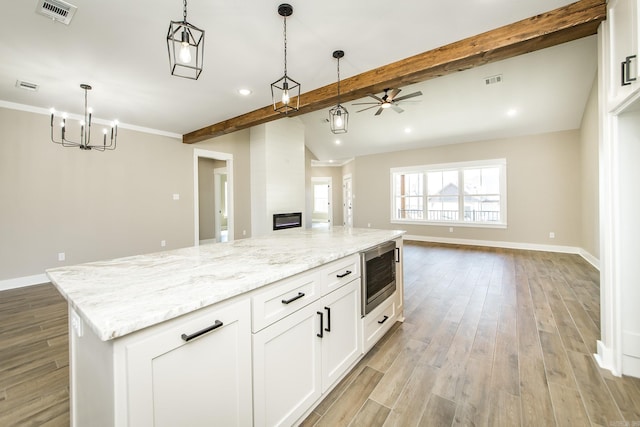
<svg viewBox="0 0 640 427">
<path fill-rule="evenodd" d="M 362 354 L 360 279 L 322 299 L 322 392 L 324 393 Z"/>
</svg>

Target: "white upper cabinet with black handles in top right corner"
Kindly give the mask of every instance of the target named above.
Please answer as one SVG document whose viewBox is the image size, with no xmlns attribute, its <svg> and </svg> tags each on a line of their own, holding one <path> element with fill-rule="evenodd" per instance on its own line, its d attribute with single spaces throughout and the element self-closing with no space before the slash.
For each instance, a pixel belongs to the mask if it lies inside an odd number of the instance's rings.
<svg viewBox="0 0 640 427">
<path fill-rule="evenodd" d="M 638 3 L 639 0 L 610 0 L 607 5 L 610 109 L 640 88 Z"/>
</svg>

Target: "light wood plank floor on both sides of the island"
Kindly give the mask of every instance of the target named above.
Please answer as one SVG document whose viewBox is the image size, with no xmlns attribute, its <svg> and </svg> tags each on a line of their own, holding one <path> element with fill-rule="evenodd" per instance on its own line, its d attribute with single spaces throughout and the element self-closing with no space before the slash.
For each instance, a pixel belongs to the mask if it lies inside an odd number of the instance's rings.
<svg viewBox="0 0 640 427">
<path fill-rule="evenodd" d="M 598 272 L 575 255 L 405 242 L 405 316 L 304 426 L 640 427 L 595 364 Z M 67 308 L 0 292 L 0 426 L 68 426 Z"/>
</svg>

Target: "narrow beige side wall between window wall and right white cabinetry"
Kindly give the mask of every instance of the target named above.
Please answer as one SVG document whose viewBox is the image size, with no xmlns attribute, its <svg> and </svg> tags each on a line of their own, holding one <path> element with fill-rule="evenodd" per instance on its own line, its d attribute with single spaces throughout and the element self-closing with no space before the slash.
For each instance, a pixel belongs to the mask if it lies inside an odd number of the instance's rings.
<svg viewBox="0 0 640 427">
<path fill-rule="evenodd" d="M 580 160 L 582 180 L 581 247 L 600 258 L 598 80 L 596 79 L 582 117 Z"/>
</svg>

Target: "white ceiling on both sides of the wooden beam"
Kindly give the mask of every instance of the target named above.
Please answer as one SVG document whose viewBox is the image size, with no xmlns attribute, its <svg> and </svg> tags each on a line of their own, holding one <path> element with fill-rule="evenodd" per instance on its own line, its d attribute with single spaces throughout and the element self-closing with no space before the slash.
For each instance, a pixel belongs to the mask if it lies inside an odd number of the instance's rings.
<svg viewBox="0 0 640 427">
<path fill-rule="evenodd" d="M 179 135 L 270 103 L 269 85 L 283 73 L 282 17 L 277 0 L 190 0 L 188 21 L 205 30 L 198 80 L 171 76 L 166 33 L 182 19 L 179 0 L 72 0 L 70 25 L 36 14 L 37 0 L 5 2 L 0 27 L 0 100 L 79 114 L 93 86 L 94 117 L 123 127 Z M 332 52 L 345 51 L 342 78 L 422 53 L 571 1 L 388 0 L 290 1 L 288 74 L 302 92 L 336 81 Z M 576 129 L 597 68 L 595 37 L 402 88 L 423 96 L 404 113 L 345 103 L 349 132 L 333 135 L 327 111 L 299 116 L 306 145 L 323 161 L 427 145 Z M 484 78 L 501 74 L 503 82 Z M 16 87 L 16 80 L 39 85 Z M 243 97 L 238 89 L 248 88 Z M 378 94 L 380 95 L 380 94 Z M 514 110 L 515 115 L 507 115 Z M 44 110 L 43 110 L 44 111 Z M 410 129 L 409 133 L 405 129 Z M 340 145 L 335 141 L 339 139 Z M 119 144 L 126 143 L 118 141 Z"/>
</svg>

